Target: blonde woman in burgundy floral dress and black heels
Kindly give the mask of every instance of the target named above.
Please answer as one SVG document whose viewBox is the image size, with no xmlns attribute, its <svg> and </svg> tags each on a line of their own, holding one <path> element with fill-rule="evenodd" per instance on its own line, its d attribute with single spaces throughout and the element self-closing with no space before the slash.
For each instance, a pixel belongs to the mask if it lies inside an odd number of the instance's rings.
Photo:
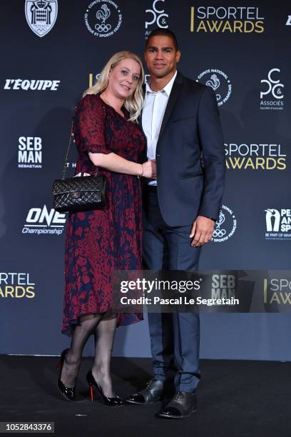
<svg viewBox="0 0 291 437">
<path fill-rule="evenodd" d="M 63 333 L 71 346 L 61 354 L 58 389 L 75 400 L 83 346 L 91 333 L 96 353 L 87 381 L 108 406 L 124 406 L 113 391 L 111 350 L 116 326 L 141 314 L 113 313 L 111 278 L 115 270 L 141 269 L 142 211 L 139 176 L 154 177 L 155 162 L 143 162 L 144 135 L 138 125 L 143 105 L 143 66 L 129 51 L 109 59 L 98 83 L 76 107 L 73 134 L 78 149 L 76 174 L 106 176 L 103 210 L 71 213 L 66 228 L 66 289 Z"/>
</svg>

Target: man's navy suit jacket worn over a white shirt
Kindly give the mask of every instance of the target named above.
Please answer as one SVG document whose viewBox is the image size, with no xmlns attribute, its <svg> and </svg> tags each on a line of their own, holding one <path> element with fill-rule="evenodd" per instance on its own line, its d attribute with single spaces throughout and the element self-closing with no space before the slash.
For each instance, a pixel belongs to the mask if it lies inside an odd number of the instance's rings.
<svg viewBox="0 0 291 437">
<path fill-rule="evenodd" d="M 225 150 L 215 93 L 178 72 L 156 149 L 158 201 L 168 226 L 218 219 Z"/>
</svg>

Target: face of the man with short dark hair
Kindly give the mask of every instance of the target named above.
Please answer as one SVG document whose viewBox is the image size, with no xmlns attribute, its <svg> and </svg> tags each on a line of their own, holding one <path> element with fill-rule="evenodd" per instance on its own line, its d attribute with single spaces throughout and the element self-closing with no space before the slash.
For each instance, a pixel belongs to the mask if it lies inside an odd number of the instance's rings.
<svg viewBox="0 0 291 437">
<path fill-rule="evenodd" d="M 180 50 L 175 50 L 170 36 L 152 36 L 148 41 L 145 59 L 150 74 L 162 78 L 175 72 Z"/>
</svg>

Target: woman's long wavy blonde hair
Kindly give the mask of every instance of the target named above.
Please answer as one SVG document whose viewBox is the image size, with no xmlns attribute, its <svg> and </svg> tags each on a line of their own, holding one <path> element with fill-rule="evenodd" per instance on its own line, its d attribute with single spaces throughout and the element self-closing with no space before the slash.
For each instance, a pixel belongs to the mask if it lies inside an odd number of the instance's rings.
<svg viewBox="0 0 291 437">
<path fill-rule="evenodd" d="M 114 69 L 114 67 L 118 65 L 120 61 L 123 61 L 123 59 L 133 59 L 133 61 L 136 61 L 141 67 L 141 74 L 138 79 L 138 86 L 136 87 L 134 93 L 131 94 L 131 96 L 129 96 L 124 102 L 124 106 L 130 114 L 130 118 L 128 119 L 128 121 L 137 121 L 138 117 L 141 114 L 141 109 L 143 108 L 142 86 L 145 74 L 143 71 L 141 58 L 132 51 L 118 51 L 118 53 L 111 56 L 111 59 L 109 59 L 106 66 L 104 66 L 103 70 L 101 71 L 101 74 L 99 75 L 96 84 L 86 89 L 86 91 L 84 91 L 83 93 L 83 96 L 86 96 L 86 94 L 97 94 L 104 91 L 108 86 L 109 74 L 111 69 Z"/>
</svg>

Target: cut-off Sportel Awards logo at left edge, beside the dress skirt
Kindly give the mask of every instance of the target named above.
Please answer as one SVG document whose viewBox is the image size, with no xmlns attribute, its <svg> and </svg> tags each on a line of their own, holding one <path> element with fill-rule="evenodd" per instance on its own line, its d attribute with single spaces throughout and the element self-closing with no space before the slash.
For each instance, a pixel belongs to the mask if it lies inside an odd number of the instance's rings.
<svg viewBox="0 0 291 437">
<path fill-rule="evenodd" d="M 0 298 L 34 298 L 34 286 L 29 273 L 0 273 Z"/>
</svg>

